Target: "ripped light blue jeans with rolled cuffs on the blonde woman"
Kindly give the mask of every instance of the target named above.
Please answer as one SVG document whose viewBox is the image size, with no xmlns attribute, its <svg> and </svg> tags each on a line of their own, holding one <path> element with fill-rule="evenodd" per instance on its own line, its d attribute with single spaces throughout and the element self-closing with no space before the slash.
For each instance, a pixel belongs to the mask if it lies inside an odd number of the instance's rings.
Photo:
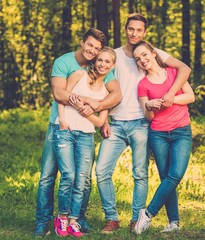
<svg viewBox="0 0 205 240">
<path fill-rule="evenodd" d="M 60 214 L 78 219 L 86 177 L 94 160 L 94 137 L 92 133 L 59 130 L 56 125 L 53 141 L 61 173 L 58 210 Z"/>
</svg>

